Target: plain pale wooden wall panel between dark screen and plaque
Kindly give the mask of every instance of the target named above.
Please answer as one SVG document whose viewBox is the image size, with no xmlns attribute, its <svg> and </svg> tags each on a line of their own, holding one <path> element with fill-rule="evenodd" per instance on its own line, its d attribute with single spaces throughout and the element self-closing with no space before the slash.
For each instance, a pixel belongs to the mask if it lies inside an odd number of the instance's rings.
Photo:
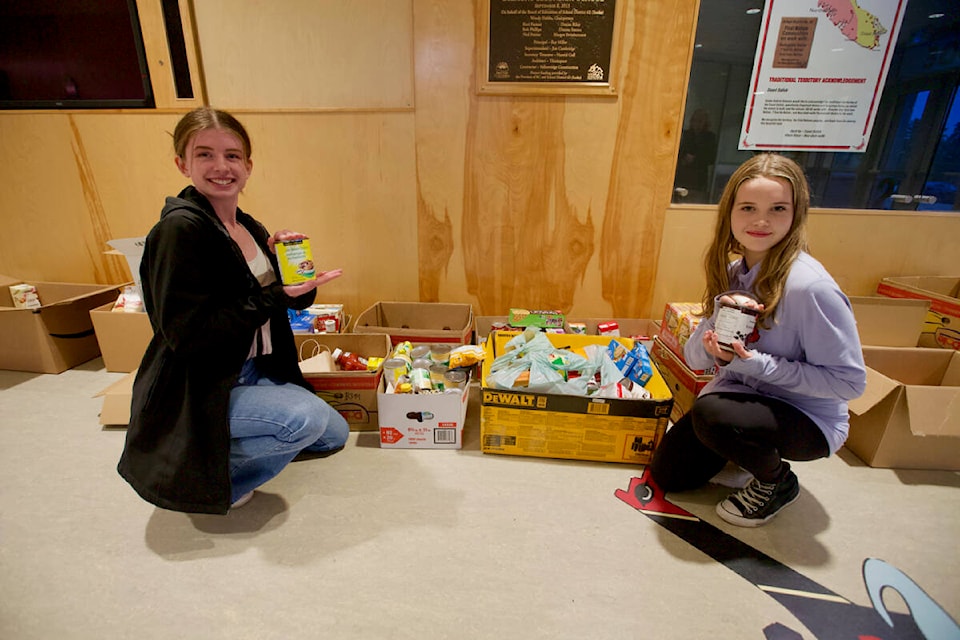
<svg viewBox="0 0 960 640">
<path fill-rule="evenodd" d="M 227 109 L 413 108 L 410 0 L 193 0 Z"/>
</svg>

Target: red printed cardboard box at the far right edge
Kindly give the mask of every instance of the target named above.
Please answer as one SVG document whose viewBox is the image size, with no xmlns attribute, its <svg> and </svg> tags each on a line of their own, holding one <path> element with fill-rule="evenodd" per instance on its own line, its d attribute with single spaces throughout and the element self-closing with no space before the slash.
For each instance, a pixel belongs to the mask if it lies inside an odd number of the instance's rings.
<svg viewBox="0 0 960 640">
<path fill-rule="evenodd" d="M 891 298 L 929 300 L 921 347 L 960 350 L 960 276 L 899 276 L 884 278 L 877 293 Z"/>
</svg>

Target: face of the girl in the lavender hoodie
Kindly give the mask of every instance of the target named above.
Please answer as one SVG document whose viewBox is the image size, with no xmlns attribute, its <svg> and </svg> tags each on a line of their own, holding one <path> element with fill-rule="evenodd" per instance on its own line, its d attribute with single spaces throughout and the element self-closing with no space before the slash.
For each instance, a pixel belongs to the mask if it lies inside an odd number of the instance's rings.
<svg viewBox="0 0 960 640">
<path fill-rule="evenodd" d="M 747 267 L 763 260 L 793 224 L 793 189 L 782 178 L 752 178 L 740 185 L 730 212 L 730 230 L 743 247 Z"/>
</svg>

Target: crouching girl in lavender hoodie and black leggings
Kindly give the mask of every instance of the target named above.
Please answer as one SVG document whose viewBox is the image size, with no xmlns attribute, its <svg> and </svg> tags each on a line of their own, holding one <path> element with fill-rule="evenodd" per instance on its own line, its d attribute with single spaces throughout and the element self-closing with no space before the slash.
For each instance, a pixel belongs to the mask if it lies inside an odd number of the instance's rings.
<svg viewBox="0 0 960 640">
<path fill-rule="evenodd" d="M 725 521 L 768 522 L 800 494 L 788 461 L 835 453 L 847 437 L 847 402 L 866 373 L 850 302 L 809 253 L 810 189 L 781 155 L 753 156 L 734 171 L 704 258 L 703 319 L 684 347 L 693 369 L 716 367 L 690 411 L 654 452 L 662 491 L 706 484 L 729 462 L 750 482 L 717 505 Z M 746 307 L 756 329 L 721 343 L 721 305 Z"/>
</svg>

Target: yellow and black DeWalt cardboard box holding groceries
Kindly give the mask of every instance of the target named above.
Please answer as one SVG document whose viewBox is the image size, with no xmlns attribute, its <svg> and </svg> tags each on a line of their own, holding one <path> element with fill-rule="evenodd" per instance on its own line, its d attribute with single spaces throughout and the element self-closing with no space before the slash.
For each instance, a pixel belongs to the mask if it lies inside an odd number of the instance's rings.
<svg viewBox="0 0 960 640">
<path fill-rule="evenodd" d="M 647 383 L 650 400 L 619 400 L 485 384 L 490 364 L 515 334 L 495 332 L 484 345 L 481 380 L 480 447 L 484 453 L 646 464 L 667 428 L 673 398 L 657 371 Z M 630 338 L 548 334 L 557 347 L 606 347 Z"/>
</svg>

